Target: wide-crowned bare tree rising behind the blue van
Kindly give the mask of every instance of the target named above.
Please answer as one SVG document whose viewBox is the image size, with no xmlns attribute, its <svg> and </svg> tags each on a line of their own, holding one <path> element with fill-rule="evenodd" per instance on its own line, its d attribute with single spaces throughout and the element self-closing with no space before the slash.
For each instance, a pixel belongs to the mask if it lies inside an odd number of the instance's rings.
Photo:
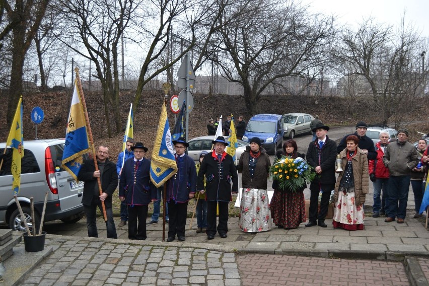
<svg viewBox="0 0 429 286">
<path fill-rule="evenodd" d="M 261 93 L 277 79 L 303 77 L 323 64 L 318 54 L 329 45 L 333 23 L 281 0 L 244 0 L 225 10 L 219 64 L 229 81 L 243 86 L 249 111 L 258 112 Z"/>
</svg>

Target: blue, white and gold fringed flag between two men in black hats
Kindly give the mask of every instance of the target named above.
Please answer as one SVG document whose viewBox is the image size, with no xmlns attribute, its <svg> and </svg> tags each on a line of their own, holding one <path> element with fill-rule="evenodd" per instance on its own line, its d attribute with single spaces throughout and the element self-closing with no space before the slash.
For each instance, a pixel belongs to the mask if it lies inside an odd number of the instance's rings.
<svg viewBox="0 0 429 286">
<path fill-rule="evenodd" d="M 170 125 L 168 123 L 165 103 L 162 105 L 158 133 L 155 137 L 151 160 L 151 180 L 160 187 L 177 172 L 176 159 L 173 153 Z"/>
</svg>

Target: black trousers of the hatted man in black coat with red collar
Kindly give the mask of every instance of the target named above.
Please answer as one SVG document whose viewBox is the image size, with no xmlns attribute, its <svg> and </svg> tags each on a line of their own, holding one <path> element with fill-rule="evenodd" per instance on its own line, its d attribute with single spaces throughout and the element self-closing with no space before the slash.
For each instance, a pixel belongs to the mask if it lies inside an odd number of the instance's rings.
<svg viewBox="0 0 429 286">
<path fill-rule="evenodd" d="M 228 232 L 228 201 L 207 201 L 207 235 L 216 234 L 216 206 L 219 203 L 219 224 L 218 233 L 227 234 Z"/>
</svg>

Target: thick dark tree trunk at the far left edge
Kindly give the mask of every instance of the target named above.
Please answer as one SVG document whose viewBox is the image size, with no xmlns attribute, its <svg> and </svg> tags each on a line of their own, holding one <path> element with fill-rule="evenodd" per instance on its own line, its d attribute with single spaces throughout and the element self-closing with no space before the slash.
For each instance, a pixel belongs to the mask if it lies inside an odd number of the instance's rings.
<svg viewBox="0 0 429 286">
<path fill-rule="evenodd" d="M 49 0 L 23 1 L 16 0 L 13 3 L 3 0 L 0 8 L 0 15 L 7 15 L 5 19 L 6 28 L 0 35 L 0 41 L 5 36 L 4 33 L 12 32 L 12 65 L 11 81 L 8 100 L 8 124 L 11 124 L 18 100 L 23 91 L 23 66 L 25 55 L 30 48 L 34 34 L 45 15 L 46 6 Z M 6 12 L 5 14 L 3 14 Z"/>
</svg>

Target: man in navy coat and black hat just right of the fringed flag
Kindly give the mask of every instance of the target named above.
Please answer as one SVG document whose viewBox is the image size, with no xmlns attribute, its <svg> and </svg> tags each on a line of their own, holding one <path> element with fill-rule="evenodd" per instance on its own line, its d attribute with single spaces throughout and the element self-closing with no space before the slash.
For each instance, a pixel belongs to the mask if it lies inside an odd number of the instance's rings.
<svg viewBox="0 0 429 286">
<path fill-rule="evenodd" d="M 188 201 L 193 198 L 196 191 L 196 169 L 194 160 L 185 154 L 189 144 L 185 138 L 179 137 L 173 140 L 176 150 L 177 164 L 176 174 L 167 181 L 167 194 L 169 222 L 167 242 L 176 238 L 185 241 L 185 225 L 188 209 Z"/>
</svg>

